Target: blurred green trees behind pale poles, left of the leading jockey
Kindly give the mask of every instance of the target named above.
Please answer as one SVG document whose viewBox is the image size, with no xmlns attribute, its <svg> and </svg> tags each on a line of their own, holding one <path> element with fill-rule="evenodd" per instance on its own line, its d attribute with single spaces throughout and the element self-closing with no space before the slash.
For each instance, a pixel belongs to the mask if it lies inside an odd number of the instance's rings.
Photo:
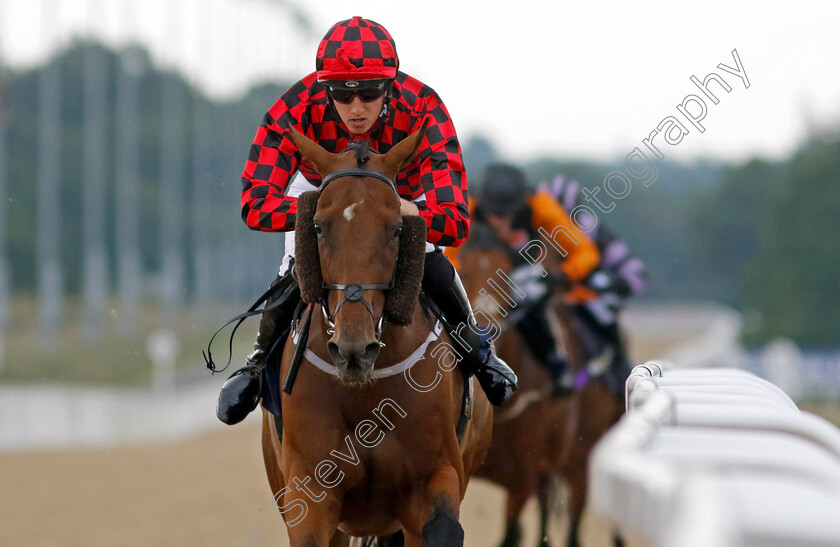
<svg viewBox="0 0 840 547">
<path fill-rule="evenodd" d="M 283 83 L 265 84 L 249 91 L 246 95 L 232 100 L 217 101 L 209 99 L 199 89 L 190 85 L 180 74 L 160 70 L 155 67 L 148 53 L 140 48 L 129 47 L 114 51 L 98 43 L 77 42 L 51 58 L 45 65 L 28 70 L 16 71 L 8 67 L 0 70 L 0 93 L 2 110 L 5 116 L 7 132 L 7 189 L 8 200 L 6 223 L 7 241 L 5 249 L 11 264 L 11 285 L 16 292 L 32 292 L 37 284 L 36 243 L 37 243 L 37 169 L 38 169 L 38 86 L 44 71 L 58 71 L 61 75 L 60 91 L 60 131 L 54 135 L 60 140 L 60 203 L 61 203 L 61 253 L 65 265 L 64 286 L 68 292 L 75 293 L 81 288 L 83 275 L 82 260 L 82 204 L 84 119 L 84 58 L 86 52 L 94 48 L 97 58 L 103 63 L 102 71 L 107 77 L 105 90 L 105 113 L 107 135 L 106 150 L 102 156 L 106 159 L 107 181 L 104 185 L 105 202 L 109 207 L 106 218 L 108 256 L 113 264 L 115 247 L 118 241 L 114 236 L 120 219 L 113 214 L 116 201 L 114 183 L 118 170 L 116 157 L 117 142 L 123 138 L 123 131 L 128 121 L 117 107 L 117 75 L 126 70 L 126 58 L 130 57 L 131 70 L 137 76 L 139 127 L 138 134 L 138 173 L 140 233 L 139 242 L 143 268 L 155 272 L 160 267 L 160 193 L 166 192 L 161 186 L 161 131 L 164 127 L 162 90 L 165 85 L 173 84 L 183 97 L 184 114 L 184 157 L 179 172 L 183 174 L 185 194 L 179 208 L 183 215 L 179 218 L 185 233 L 183 252 L 187 255 L 188 265 L 192 264 L 189 256 L 194 251 L 192 204 L 201 198 L 207 207 L 200 215 L 209 220 L 210 228 L 222 227 L 224 230 L 245 230 L 239 220 L 239 174 L 248 153 L 257 125 L 267 107 L 285 89 Z M 209 173 L 204 187 L 196 188 L 191 182 L 196 173 L 194 155 L 200 139 L 202 157 L 207 159 L 202 166 Z M 202 195 L 199 196 L 198 194 Z M 200 229 L 206 230 L 207 225 Z M 218 231 L 218 230 L 217 230 Z M 254 233 L 246 244 L 253 253 L 260 252 L 265 239 Z M 201 237 L 201 235 L 199 235 Z M 208 233 L 207 237 L 213 237 Z M 216 242 L 214 242 L 216 243 Z M 282 246 L 276 250 L 279 255 Z M 191 266 L 188 266 L 191 267 Z M 229 268 L 230 265 L 220 264 Z M 255 289 L 265 285 L 270 279 L 270 272 L 265 272 L 259 279 L 253 280 Z"/>
</svg>

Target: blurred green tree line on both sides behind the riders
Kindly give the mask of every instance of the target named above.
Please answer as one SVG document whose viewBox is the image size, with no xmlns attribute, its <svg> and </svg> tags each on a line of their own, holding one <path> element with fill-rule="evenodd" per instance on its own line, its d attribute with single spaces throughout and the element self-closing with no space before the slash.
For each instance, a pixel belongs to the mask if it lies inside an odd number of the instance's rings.
<svg viewBox="0 0 840 547">
<path fill-rule="evenodd" d="M 77 292 L 81 285 L 78 257 L 81 248 L 83 55 L 85 48 L 102 48 L 106 70 L 121 70 L 121 53 L 97 44 L 76 43 L 46 65 L 26 71 L 2 70 L 2 106 L 8 130 L 5 248 L 11 265 L 12 288 L 32 292 L 36 278 L 37 96 L 44 70 L 63 75 L 61 131 L 62 154 L 62 253 L 71 266 L 66 286 Z M 210 127 L 204 138 L 210 147 L 212 183 L 206 188 L 208 218 L 224 230 L 246 230 L 238 219 L 239 173 L 248 145 L 265 110 L 287 87 L 287 82 L 266 84 L 227 101 L 207 98 L 179 74 L 156 68 L 144 52 L 139 75 L 141 111 L 140 211 L 141 250 L 144 268 L 159 266 L 158 198 L 161 119 L 160 89 L 175 81 L 186 97 L 187 112 L 205 112 L 209 120 L 187 117 L 186 139 Z M 108 172 L 113 164 L 114 143 L 120 138 L 119 112 L 114 108 L 114 80 L 109 79 L 107 101 Z M 201 103 L 196 108 L 196 103 Z M 207 123 L 209 121 L 209 123 Z M 202 125 L 202 122 L 204 125 Z M 463 137 L 462 137 L 463 139 Z M 470 184 L 480 184 L 484 166 L 502 155 L 481 135 L 463 139 Z M 504 144 L 504 143 L 497 143 Z M 190 151 L 190 148 L 187 147 Z M 515 159 L 506 158 L 513 163 Z M 522 164 L 533 182 L 563 173 L 583 186 L 600 186 L 604 176 L 621 168 L 619 162 L 561 161 L 543 158 Z M 184 176 L 192 177 L 192 163 L 185 158 Z M 789 158 L 771 161 L 754 158 L 739 165 L 706 160 L 692 164 L 657 163 L 659 176 L 650 187 L 635 188 L 614 212 L 600 217 L 648 265 L 651 288 L 643 298 L 667 300 L 711 299 L 748 311 L 748 341 L 776 336 L 793 338 L 807 346 L 840 345 L 835 320 L 840 318 L 840 137 L 837 133 L 812 136 Z M 113 186 L 108 186 L 113 192 Z M 186 200 L 196 198 L 190 189 Z M 192 193 L 191 193 L 192 192 Z M 113 196 L 109 196 L 112 199 Z M 113 228 L 118 218 L 108 219 Z M 194 229 L 183 219 L 187 232 Z M 236 223 L 239 223 L 237 225 Z M 187 241 L 191 241 L 188 237 Z M 254 252 L 264 240 L 254 240 Z M 111 251 L 115 241 L 109 245 Z M 184 252 L 191 252 L 189 244 Z M 113 256 L 113 252 L 111 253 Z M 278 260 L 279 262 L 279 260 Z M 189 261 L 188 261 L 189 263 Z M 227 267 L 230 267 L 228 265 Z M 269 274 L 254 281 L 254 294 Z"/>
</svg>

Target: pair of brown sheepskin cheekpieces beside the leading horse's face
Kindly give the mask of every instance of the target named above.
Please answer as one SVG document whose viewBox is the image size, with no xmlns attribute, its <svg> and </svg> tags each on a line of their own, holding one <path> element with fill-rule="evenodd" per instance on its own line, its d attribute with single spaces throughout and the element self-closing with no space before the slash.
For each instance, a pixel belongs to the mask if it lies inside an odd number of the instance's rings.
<svg viewBox="0 0 840 547">
<path fill-rule="evenodd" d="M 313 222 L 320 195 L 318 191 L 304 192 L 297 199 L 295 273 L 301 298 L 308 303 L 319 303 L 326 296 Z M 426 221 L 419 216 L 404 216 L 402 220 L 394 288 L 385 295 L 384 311 L 388 321 L 396 325 L 411 323 L 426 258 Z"/>
</svg>

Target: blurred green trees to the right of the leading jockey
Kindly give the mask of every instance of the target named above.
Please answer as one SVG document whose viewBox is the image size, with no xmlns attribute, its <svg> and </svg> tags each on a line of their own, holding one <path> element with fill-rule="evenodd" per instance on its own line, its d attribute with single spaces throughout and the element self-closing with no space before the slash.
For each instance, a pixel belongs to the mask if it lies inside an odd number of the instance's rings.
<svg viewBox="0 0 840 547">
<path fill-rule="evenodd" d="M 471 144 L 465 158 L 474 188 L 502 155 L 485 139 Z M 650 187 L 634 186 L 599 216 L 646 263 L 651 285 L 642 299 L 732 306 L 745 315 L 749 345 L 776 337 L 840 345 L 840 127 L 810 136 L 781 160 L 656 165 Z M 623 167 L 552 158 L 520 166 L 534 184 L 562 173 L 589 188 Z"/>
</svg>

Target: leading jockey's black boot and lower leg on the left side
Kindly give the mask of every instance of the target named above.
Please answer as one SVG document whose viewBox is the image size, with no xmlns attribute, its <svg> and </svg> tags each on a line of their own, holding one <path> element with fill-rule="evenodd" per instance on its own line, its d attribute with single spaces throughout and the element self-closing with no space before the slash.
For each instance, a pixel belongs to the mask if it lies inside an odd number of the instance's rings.
<svg viewBox="0 0 840 547">
<path fill-rule="evenodd" d="M 272 286 L 282 283 L 269 298 L 265 307 L 272 309 L 262 314 L 254 351 L 245 358 L 245 366 L 225 381 L 216 403 L 216 416 L 228 425 L 238 424 L 251 413 L 260 401 L 265 382 L 266 357 L 276 340 L 282 344 L 288 336 L 295 308 L 300 302 L 300 289 L 291 273 L 278 276 Z M 282 350 L 282 347 L 278 348 Z"/>
</svg>

